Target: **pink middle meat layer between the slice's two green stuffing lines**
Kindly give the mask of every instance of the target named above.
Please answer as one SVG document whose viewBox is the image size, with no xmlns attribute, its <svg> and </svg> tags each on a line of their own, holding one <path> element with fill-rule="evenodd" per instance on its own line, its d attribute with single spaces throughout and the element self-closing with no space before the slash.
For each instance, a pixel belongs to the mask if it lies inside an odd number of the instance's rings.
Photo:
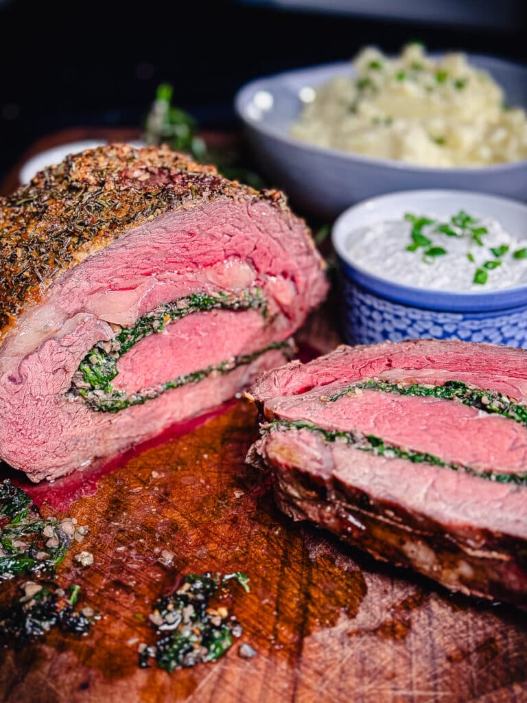
<svg viewBox="0 0 527 703">
<path fill-rule="evenodd" d="M 336 391 L 339 387 L 334 387 Z M 310 420 L 326 430 L 346 432 L 353 427 L 376 434 L 391 444 L 440 454 L 449 462 L 493 471 L 495 467 L 527 474 L 527 427 L 500 415 L 482 413 L 441 398 L 400 396 L 364 389 L 355 396 L 325 402 L 328 388 L 302 396 L 273 399 L 266 416 Z M 490 439 L 490 441 L 489 441 Z"/>
</svg>

